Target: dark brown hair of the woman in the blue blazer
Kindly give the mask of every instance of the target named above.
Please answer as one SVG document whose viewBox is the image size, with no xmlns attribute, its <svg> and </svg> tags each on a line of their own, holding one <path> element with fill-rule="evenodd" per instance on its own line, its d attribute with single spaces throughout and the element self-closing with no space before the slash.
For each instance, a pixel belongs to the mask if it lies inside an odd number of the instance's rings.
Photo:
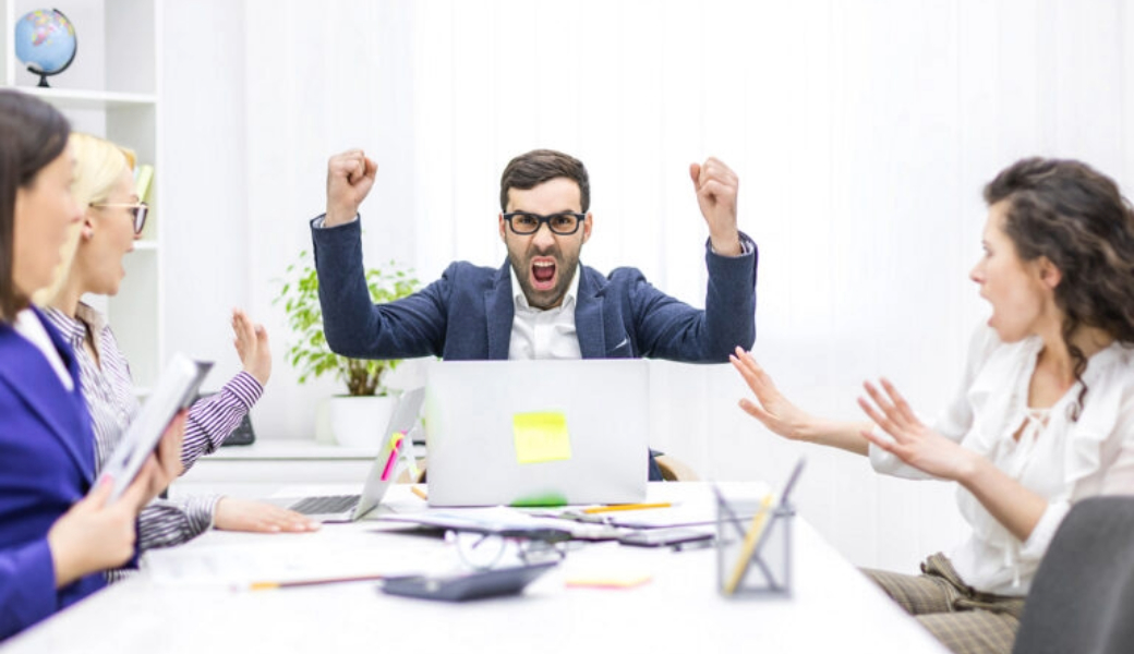
<svg viewBox="0 0 1134 654">
<path fill-rule="evenodd" d="M 67 147 L 70 125 L 39 97 L 0 90 L 0 320 L 11 322 L 28 304 L 12 280 L 16 192 L 31 188 Z M 31 292 L 35 289 L 25 289 Z"/>
</svg>

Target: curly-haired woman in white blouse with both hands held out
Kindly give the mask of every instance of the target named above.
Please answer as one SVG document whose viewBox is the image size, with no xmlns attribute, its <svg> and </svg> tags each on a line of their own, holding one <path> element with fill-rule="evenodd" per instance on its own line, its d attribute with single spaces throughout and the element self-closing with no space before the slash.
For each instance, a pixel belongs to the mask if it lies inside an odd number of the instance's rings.
<svg viewBox="0 0 1134 654">
<path fill-rule="evenodd" d="M 794 406 L 752 358 L 741 407 L 781 436 L 869 456 L 880 473 L 958 483 L 972 534 L 921 576 L 868 571 L 954 652 L 1009 652 L 1032 577 L 1072 502 L 1134 493 L 1134 211 L 1076 161 L 1027 159 L 984 188 L 992 305 L 960 392 L 937 423 L 887 380 L 862 423 Z"/>
</svg>

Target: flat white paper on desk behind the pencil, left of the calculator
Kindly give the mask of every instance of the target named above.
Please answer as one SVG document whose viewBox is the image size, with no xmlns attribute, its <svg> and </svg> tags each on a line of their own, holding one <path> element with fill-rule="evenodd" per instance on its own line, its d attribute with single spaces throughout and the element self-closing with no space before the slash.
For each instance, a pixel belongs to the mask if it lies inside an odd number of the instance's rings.
<svg viewBox="0 0 1134 654">
<path fill-rule="evenodd" d="M 384 546 L 375 534 L 320 535 L 265 535 L 251 542 L 150 550 L 142 568 L 156 584 L 247 589 L 264 581 L 437 572 L 455 563 L 445 547 L 422 547 L 416 538 Z"/>
</svg>

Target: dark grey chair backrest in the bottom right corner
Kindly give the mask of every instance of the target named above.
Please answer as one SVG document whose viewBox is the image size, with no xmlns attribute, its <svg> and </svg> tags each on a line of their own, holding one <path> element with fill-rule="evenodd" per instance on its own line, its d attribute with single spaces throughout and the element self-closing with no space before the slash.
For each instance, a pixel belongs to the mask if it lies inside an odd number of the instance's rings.
<svg viewBox="0 0 1134 654">
<path fill-rule="evenodd" d="M 1134 496 L 1075 503 L 1051 540 L 1014 654 L 1134 652 Z"/>
</svg>

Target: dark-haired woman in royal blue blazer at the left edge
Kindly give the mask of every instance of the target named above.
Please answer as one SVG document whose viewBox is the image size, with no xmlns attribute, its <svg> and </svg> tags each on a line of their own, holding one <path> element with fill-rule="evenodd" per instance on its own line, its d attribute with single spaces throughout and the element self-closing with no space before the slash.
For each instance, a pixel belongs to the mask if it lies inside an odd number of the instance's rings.
<svg viewBox="0 0 1134 654">
<path fill-rule="evenodd" d="M 0 639 L 101 588 L 98 572 L 134 554 L 141 507 L 180 470 L 184 415 L 107 503 L 74 354 L 28 299 L 82 216 L 69 131 L 48 103 L 0 91 Z"/>
</svg>

